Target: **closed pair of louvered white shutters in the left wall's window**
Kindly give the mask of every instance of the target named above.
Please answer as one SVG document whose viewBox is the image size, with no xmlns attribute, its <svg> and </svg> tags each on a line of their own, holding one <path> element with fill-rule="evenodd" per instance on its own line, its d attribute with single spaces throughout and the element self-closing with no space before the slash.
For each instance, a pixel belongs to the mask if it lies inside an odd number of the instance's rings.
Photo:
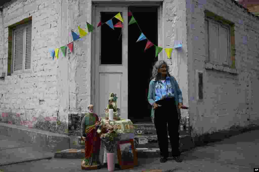
<svg viewBox="0 0 259 172">
<path fill-rule="evenodd" d="M 13 29 L 13 72 L 31 68 L 31 23 Z"/>
</svg>

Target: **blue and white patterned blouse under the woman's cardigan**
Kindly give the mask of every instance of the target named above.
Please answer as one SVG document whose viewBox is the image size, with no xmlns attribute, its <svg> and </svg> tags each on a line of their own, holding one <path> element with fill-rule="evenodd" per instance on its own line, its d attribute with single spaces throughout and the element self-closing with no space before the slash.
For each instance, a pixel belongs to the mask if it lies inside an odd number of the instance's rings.
<svg viewBox="0 0 259 172">
<path fill-rule="evenodd" d="M 166 98 L 174 97 L 174 88 L 170 83 L 170 77 L 165 82 L 159 80 L 155 85 L 155 102 Z"/>
</svg>

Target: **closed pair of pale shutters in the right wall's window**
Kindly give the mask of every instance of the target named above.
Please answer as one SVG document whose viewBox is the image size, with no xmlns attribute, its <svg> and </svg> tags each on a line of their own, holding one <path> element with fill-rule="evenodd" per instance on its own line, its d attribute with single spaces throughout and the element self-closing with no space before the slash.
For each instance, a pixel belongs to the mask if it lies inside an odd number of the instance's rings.
<svg viewBox="0 0 259 172">
<path fill-rule="evenodd" d="M 210 18 L 205 20 L 205 51 L 212 63 L 229 65 L 229 26 Z"/>
</svg>

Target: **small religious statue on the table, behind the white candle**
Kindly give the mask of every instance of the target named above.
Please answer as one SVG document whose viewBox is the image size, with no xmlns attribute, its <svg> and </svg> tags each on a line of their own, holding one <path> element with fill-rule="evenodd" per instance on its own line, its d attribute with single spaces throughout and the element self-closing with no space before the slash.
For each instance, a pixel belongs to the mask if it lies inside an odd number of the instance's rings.
<svg viewBox="0 0 259 172">
<path fill-rule="evenodd" d="M 105 119 L 109 119 L 109 109 L 113 109 L 113 119 L 120 120 L 120 109 L 117 108 L 117 94 L 110 93 L 107 108 L 105 109 Z"/>
</svg>

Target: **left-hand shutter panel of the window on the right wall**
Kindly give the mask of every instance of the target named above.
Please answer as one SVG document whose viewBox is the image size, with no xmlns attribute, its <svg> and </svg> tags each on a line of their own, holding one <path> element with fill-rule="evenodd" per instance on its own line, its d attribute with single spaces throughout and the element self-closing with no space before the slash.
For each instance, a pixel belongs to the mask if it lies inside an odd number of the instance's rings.
<svg viewBox="0 0 259 172">
<path fill-rule="evenodd" d="M 210 61 L 217 63 L 219 61 L 219 25 L 212 21 L 209 23 L 209 46 Z"/>
</svg>

